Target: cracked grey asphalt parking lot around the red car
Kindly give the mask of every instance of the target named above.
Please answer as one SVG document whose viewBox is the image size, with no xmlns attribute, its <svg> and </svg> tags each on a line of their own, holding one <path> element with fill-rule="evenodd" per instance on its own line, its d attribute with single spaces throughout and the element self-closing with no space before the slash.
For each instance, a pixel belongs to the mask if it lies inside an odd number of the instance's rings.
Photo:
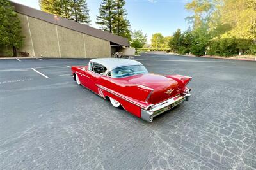
<svg viewBox="0 0 256 170">
<path fill-rule="evenodd" d="M 148 123 L 76 85 L 88 59 L 0 60 L 0 169 L 256 169 L 256 62 L 135 59 L 191 100 Z"/>
</svg>

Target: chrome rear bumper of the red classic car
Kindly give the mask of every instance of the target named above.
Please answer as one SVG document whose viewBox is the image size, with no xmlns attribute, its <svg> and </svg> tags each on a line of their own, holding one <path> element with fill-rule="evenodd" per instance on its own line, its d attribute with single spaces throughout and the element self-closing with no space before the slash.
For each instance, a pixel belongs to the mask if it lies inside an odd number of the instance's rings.
<svg viewBox="0 0 256 170">
<path fill-rule="evenodd" d="M 164 111 L 168 111 L 184 101 L 189 101 L 189 97 L 191 96 L 189 93 L 190 90 L 191 89 L 188 89 L 182 95 L 179 94 L 178 96 L 156 104 L 148 110 L 141 109 L 141 118 L 147 122 L 152 122 L 154 117 L 164 113 Z"/>
</svg>

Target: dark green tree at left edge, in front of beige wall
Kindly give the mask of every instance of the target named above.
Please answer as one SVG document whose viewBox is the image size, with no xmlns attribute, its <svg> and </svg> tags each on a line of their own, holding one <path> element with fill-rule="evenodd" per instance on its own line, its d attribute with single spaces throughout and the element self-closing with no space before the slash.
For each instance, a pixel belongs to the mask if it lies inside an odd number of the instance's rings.
<svg viewBox="0 0 256 170">
<path fill-rule="evenodd" d="M 17 48 L 22 46 L 20 20 L 13 10 L 10 1 L 0 0 L 0 46 L 13 49 L 13 56 L 17 56 Z"/>
</svg>

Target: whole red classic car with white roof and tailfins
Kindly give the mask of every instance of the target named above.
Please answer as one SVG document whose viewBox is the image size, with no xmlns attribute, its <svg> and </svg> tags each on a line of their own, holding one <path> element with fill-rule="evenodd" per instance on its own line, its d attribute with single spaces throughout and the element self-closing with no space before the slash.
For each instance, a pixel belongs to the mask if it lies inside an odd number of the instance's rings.
<svg viewBox="0 0 256 170">
<path fill-rule="evenodd" d="M 72 66 L 72 76 L 114 107 L 125 110 L 148 122 L 188 101 L 190 90 L 186 85 L 191 77 L 148 73 L 136 60 L 103 58 L 92 59 L 88 66 Z"/>
</svg>

